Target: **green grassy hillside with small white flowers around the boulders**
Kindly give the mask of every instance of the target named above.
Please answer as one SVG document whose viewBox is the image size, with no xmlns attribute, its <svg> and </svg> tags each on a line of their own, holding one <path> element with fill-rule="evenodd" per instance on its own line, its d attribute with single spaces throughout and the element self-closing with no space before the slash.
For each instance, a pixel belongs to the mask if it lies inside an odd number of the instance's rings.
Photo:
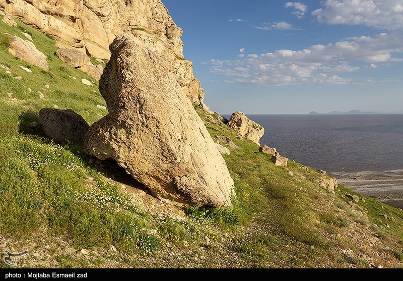
<svg viewBox="0 0 403 281">
<path fill-rule="evenodd" d="M 48 72 L 8 52 L 3 32 L 23 31 L 47 55 Z M 0 64 L 11 71 L 0 68 L 0 252 L 28 247 L 19 266 L 403 266 L 402 211 L 362 195 L 354 203 L 342 186 L 332 194 L 314 183 L 322 175 L 313 168 L 275 166 L 198 107 L 213 139 L 239 146 L 225 156 L 237 194 L 231 209 L 164 204 L 106 177 L 81 146 L 44 138 L 30 125 L 42 107 L 71 108 L 89 124 L 106 114 L 97 82 L 61 62 L 54 43 L 0 21 Z"/>
</svg>

